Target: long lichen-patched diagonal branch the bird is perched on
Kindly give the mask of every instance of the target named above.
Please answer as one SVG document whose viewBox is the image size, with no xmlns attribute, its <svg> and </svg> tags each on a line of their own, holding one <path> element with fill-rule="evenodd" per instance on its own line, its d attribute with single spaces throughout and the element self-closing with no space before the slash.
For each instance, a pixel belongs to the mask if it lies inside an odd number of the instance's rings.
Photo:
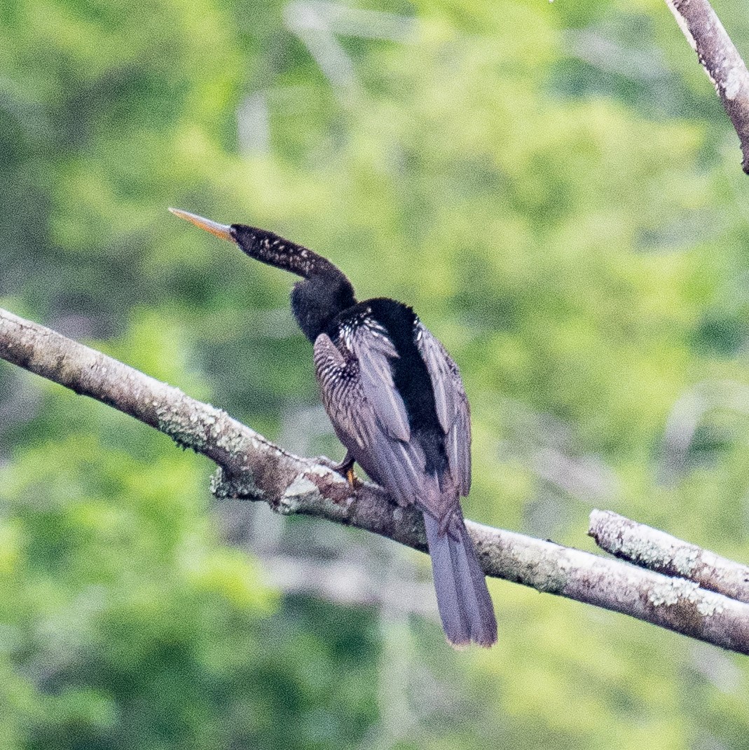
<svg viewBox="0 0 749 750">
<path fill-rule="evenodd" d="M 49 329 L 0 310 L 0 359 L 139 419 L 219 466 L 217 496 L 267 502 L 426 549 L 421 514 L 373 484 L 352 490 L 325 460 L 299 458 L 179 389 Z M 541 592 L 652 622 L 749 654 L 749 604 L 693 580 L 467 521 L 484 570 Z"/>
</svg>

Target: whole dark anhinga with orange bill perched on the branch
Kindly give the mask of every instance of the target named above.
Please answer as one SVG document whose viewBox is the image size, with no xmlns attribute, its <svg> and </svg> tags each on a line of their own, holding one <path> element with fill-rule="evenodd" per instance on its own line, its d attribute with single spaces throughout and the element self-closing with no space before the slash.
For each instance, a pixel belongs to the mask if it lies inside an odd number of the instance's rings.
<svg viewBox="0 0 749 750">
<path fill-rule="evenodd" d="M 471 484 L 471 416 L 445 347 L 406 305 L 357 302 L 343 272 L 307 248 L 265 229 L 170 210 L 251 258 L 301 276 L 292 311 L 314 345 L 322 403 L 346 447 L 338 468 L 349 473 L 356 461 L 400 505 L 424 511 L 448 641 L 491 646 L 494 609 L 460 509 Z"/>
</svg>

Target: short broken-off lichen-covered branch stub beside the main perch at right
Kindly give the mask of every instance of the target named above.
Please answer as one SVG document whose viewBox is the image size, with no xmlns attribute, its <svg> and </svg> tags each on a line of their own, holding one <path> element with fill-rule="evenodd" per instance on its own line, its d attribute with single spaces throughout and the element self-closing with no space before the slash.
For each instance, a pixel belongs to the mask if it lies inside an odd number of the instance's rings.
<svg viewBox="0 0 749 750">
<path fill-rule="evenodd" d="M 620 559 L 658 573 L 688 578 L 703 589 L 749 604 L 749 565 L 612 511 L 592 511 L 588 533 L 602 550 Z"/>
</svg>

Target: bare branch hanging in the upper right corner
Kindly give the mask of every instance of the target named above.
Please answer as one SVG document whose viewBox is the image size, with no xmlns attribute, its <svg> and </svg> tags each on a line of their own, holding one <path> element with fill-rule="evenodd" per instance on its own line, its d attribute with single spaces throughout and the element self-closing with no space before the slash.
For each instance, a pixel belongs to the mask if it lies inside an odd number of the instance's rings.
<svg viewBox="0 0 749 750">
<path fill-rule="evenodd" d="M 708 0 L 666 0 L 700 65 L 715 85 L 742 146 L 749 174 L 749 71 Z"/>
</svg>

